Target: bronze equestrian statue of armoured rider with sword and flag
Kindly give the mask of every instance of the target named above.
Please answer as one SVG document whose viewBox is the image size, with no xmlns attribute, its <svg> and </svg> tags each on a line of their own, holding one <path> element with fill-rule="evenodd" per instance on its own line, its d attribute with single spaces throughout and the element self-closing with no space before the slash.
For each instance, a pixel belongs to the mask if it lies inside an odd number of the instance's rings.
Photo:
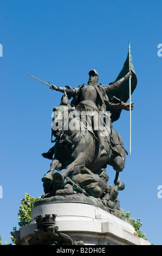
<svg viewBox="0 0 162 256">
<path fill-rule="evenodd" d="M 60 106 L 53 108 L 51 135 L 52 138 L 55 137 L 55 141 L 52 141 L 55 145 L 42 154 L 52 160 L 49 172 L 42 178 L 45 193 L 63 195 L 80 191 L 87 196 L 102 198 L 106 204 L 114 198 L 114 204 L 118 190 L 124 190 L 125 185 L 120 181 L 119 174 L 124 169 L 127 151 L 118 132 L 113 129 L 113 122 L 119 119 L 122 109 L 129 110 L 130 106 L 126 101 L 129 98 L 130 76 L 131 93 L 137 86 L 133 65 L 130 72 L 127 60 L 119 76 L 108 86 L 98 84 L 99 74 L 95 69 L 89 71 L 87 86 L 83 84 L 77 88 L 69 88 L 50 85 L 51 89 L 62 92 L 63 96 Z M 73 99 L 69 103 L 71 98 Z M 68 113 L 66 117 L 65 113 Z M 85 119 L 81 118 L 82 113 L 86 113 Z M 103 127 L 99 124 L 100 118 Z M 88 126 L 89 120 L 92 126 Z M 64 129 L 65 126 L 68 129 Z M 107 164 L 116 171 L 115 186 L 108 186 L 107 181 L 103 186 L 101 182 L 101 177 L 106 174 Z M 54 173 L 55 170 L 58 172 Z"/>
</svg>

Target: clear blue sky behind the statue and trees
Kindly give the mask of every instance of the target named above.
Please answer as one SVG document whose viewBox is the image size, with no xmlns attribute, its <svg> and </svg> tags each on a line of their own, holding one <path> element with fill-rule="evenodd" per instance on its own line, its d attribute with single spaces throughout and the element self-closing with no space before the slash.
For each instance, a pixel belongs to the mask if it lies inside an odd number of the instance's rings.
<svg viewBox="0 0 162 256">
<path fill-rule="evenodd" d="M 42 196 L 42 176 L 50 160 L 51 114 L 61 93 L 51 92 L 29 72 L 56 86 L 87 83 L 88 72 L 99 72 L 99 83 L 116 79 L 125 62 L 128 41 L 138 84 L 132 94 L 132 153 L 126 157 L 119 193 L 120 206 L 141 218 L 148 241 L 162 245 L 158 186 L 161 169 L 161 1 L 39 0 L 0 2 L 1 176 L 0 235 L 10 240 L 18 228 L 24 193 Z M 129 147 L 129 113 L 114 123 Z M 109 183 L 115 171 L 107 168 Z M 162 194 L 162 193 L 161 193 Z"/>
</svg>

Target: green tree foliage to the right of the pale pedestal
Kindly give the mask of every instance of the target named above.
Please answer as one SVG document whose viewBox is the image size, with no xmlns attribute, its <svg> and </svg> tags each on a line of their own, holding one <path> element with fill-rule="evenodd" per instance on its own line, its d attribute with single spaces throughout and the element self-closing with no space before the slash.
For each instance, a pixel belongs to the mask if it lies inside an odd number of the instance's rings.
<svg viewBox="0 0 162 256">
<path fill-rule="evenodd" d="M 124 214 L 124 217 L 131 221 L 132 224 L 133 224 L 133 227 L 134 227 L 134 230 L 137 232 L 137 235 L 139 237 L 141 237 L 142 239 L 145 239 L 147 240 L 147 237 L 146 237 L 146 234 L 142 234 L 142 230 L 140 230 L 140 228 L 142 227 L 142 223 L 141 223 L 141 220 L 140 218 L 137 218 L 137 220 L 135 220 L 135 218 L 131 218 L 130 215 L 131 215 L 131 212 L 127 211 L 127 212 L 124 212 L 124 210 L 121 209 L 121 212 L 122 214 Z"/>
</svg>

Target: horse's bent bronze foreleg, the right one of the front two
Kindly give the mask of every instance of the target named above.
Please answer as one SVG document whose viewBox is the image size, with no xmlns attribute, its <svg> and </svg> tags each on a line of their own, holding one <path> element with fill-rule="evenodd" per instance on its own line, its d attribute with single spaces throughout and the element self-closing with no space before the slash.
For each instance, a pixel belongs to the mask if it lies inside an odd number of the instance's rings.
<svg viewBox="0 0 162 256">
<path fill-rule="evenodd" d="M 85 164 L 86 164 L 85 159 L 86 159 L 86 155 L 85 154 L 80 153 L 79 155 L 77 155 L 76 159 L 67 166 L 66 170 L 64 170 L 63 173 L 54 173 L 54 175 L 53 175 L 54 176 L 54 180 L 56 182 L 62 182 L 64 179 L 66 179 L 66 177 L 69 174 L 72 174 L 81 165 L 85 166 Z"/>
</svg>

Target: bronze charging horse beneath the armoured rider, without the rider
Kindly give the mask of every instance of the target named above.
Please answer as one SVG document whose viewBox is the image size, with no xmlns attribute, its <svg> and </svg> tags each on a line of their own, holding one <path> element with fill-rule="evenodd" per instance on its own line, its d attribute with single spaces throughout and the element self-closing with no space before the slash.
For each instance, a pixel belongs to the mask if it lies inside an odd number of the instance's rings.
<svg viewBox="0 0 162 256">
<path fill-rule="evenodd" d="M 56 137 L 56 143 L 50 173 L 54 180 L 62 182 L 80 166 L 85 166 L 94 174 L 100 174 L 101 169 L 106 168 L 108 164 L 116 171 L 114 184 L 118 186 L 118 190 L 124 190 L 125 185 L 120 181 L 119 175 L 125 166 L 125 149 L 122 147 L 119 134 L 114 129 L 110 129 L 105 139 L 108 156 L 101 157 L 99 140 L 94 136 L 93 131 L 86 129 L 86 123 L 78 118 L 79 112 L 75 112 L 78 113 L 77 117 L 72 115 L 74 109 L 75 107 L 69 102 L 53 108 L 53 135 Z M 65 113 L 68 113 L 68 118 L 64 116 Z M 64 129 L 65 127 L 68 129 Z M 114 144 L 115 151 L 112 147 Z M 65 170 L 62 173 L 54 173 L 55 169 Z M 46 179 L 46 175 L 44 177 Z"/>
</svg>

